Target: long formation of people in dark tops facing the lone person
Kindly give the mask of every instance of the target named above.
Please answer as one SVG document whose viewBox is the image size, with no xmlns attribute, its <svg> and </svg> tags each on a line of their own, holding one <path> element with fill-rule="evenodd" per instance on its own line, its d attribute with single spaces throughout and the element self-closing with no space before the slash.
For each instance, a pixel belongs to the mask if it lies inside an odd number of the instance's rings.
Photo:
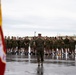
<svg viewBox="0 0 76 75">
<path fill-rule="evenodd" d="M 36 55 L 35 40 L 37 37 L 5 37 L 5 44 L 7 48 L 7 54 L 25 54 L 28 55 L 29 47 L 30 54 Z M 76 40 L 72 37 L 42 37 L 44 40 L 44 54 L 45 55 L 75 55 Z"/>
</svg>

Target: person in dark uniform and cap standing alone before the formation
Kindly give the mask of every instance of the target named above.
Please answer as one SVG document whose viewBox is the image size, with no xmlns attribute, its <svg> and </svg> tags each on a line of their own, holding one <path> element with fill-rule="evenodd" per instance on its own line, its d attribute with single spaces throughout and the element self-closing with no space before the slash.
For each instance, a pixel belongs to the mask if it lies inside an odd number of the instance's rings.
<svg viewBox="0 0 76 75">
<path fill-rule="evenodd" d="M 37 52 L 37 62 L 38 66 L 43 66 L 44 61 L 44 40 L 41 34 L 38 34 L 38 38 L 35 40 L 36 52 Z"/>
</svg>

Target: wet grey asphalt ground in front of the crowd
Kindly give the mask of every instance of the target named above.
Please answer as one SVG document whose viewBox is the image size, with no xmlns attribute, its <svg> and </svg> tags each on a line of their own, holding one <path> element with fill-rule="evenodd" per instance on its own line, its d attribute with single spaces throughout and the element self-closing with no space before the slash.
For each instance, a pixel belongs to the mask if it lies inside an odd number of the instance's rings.
<svg viewBox="0 0 76 75">
<path fill-rule="evenodd" d="M 76 75 L 76 61 L 45 57 L 38 67 L 34 56 L 7 55 L 5 75 Z"/>
</svg>

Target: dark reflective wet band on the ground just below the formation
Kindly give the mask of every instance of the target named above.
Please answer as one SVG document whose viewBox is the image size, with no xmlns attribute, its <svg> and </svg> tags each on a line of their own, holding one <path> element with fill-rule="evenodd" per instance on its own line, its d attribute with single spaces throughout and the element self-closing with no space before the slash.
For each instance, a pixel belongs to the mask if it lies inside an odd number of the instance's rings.
<svg viewBox="0 0 76 75">
<path fill-rule="evenodd" d="M 49 57 L 48 57 L 49 58 Z M 7 56 L 8 62 L 27 62 L 37 63 L 36 57 L 30 56 Z M 44 64 L 64 65 L 64 66 L 76 66 L 75 60 L 57 60 L 57 59 L 44 59 Z"/>
</svg>

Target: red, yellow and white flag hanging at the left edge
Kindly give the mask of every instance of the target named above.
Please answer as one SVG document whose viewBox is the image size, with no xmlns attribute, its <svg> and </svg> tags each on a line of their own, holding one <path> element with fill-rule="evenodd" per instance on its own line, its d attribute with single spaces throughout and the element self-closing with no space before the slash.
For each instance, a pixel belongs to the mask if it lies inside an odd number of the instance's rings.
<svg viewBox="0 0 76 75">
<path fill-rule="evenodd" d="M 0 75 L 4 75 L 6 65 L 6 49 L 2 32 L 2 15 L 1 15 L 1 0 L 0 0 Z"/>
</svg>

